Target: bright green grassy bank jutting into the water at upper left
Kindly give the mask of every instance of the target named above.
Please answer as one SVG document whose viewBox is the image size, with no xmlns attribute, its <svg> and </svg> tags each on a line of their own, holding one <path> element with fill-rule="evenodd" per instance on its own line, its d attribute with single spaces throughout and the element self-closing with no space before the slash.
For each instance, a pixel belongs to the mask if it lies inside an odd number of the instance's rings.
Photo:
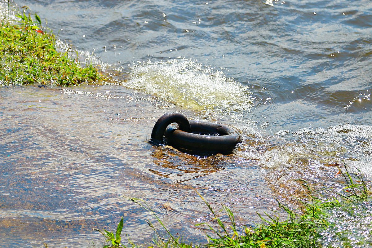
<svg viewBox="0 0 372 248">
<path fill-rule="evenodd" d="M 92 64 L 83 66 L 67 52 L 59 52 L 55 35 L 42 27 L 38 15 L 12 11 L 19 21 L 9 16 L 0 21 L 0 84 L 70 86 L 103 79 Z"/>
</svg>

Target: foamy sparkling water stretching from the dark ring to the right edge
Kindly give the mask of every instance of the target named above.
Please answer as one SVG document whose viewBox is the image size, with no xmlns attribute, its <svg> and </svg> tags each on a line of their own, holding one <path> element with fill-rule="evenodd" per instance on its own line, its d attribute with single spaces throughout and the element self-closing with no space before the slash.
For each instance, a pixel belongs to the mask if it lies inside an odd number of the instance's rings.
<svg viewBox="0 0 372 248">
<path fill-rule="evenodd" d="M 253 152 L 251 146 L 243 145 L 238 154 L 258 160 L 267 183 L 288 200 L 302 195 L 304 181 L 322 189 L 334 187 L 339 170 L 328 164 L 345 162 L 351 173 L 360 170 L 368 180 L 372 178 L 372 126 L 304 128 L 280 131 L 267 139 L 254 145 Z"/>
</svg>

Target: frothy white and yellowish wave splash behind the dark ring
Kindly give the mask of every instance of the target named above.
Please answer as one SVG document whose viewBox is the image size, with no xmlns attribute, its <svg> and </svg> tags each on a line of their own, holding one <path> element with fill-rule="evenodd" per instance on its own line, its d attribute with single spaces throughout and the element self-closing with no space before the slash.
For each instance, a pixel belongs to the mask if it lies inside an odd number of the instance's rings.
<svg viewBox="0 0 372 248">
<path fill-rule="evenodd" d="M 123 82 L 125 87 L 197 111 L 243 112 L 253 101 L 247 86 L 191 59 L 138 62 L 129 77 Z"/>
</svg>

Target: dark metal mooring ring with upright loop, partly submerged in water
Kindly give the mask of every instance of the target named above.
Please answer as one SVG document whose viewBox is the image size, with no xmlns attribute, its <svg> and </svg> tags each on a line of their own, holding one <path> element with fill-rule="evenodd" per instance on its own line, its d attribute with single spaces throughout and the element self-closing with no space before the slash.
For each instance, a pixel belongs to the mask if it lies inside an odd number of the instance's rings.
<svg viewBox="0 0 372 248">
<path fill-rule="evenodd" d="M 171 126 L 177 123 L 178 128 Z M 153 128 L 151 140 L 163 143 L 163 136 L 173 147 L 191 152 L 231 154 L 241 142 L 240 133 L 226 125 L 187 120 L 180 113 L 167 113 L 161 116 Z"/>
</svg>

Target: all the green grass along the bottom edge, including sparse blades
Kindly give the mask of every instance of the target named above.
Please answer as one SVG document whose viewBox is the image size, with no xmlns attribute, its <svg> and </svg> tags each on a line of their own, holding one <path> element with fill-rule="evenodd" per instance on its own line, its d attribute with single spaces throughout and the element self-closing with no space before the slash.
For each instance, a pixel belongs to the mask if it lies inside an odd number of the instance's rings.
<svg viewBox="0 0 372 248">
<path fill-rule="evenodd" d="M 339 199 L 320 200 L 319 197 L 315 197 L 318 192 L 312 191 L 310 187 L 304 185 L 308 188 L 308 201 L 300 202 L 300 209 L 294 211 L 278 202 L 278 211 L 273 211 L 272 215 L 267 213 L 260 215 L 257 213 L 262 221 L 249 227 L 238 227 L 234 213 L 228 207 L 222 205 L 222 210 L 219 213 L 224 212 L 228 217 L 228 222 L 224 222 L 221 218 L 222 215 L 216 213 L 203 196 L 198 193 L 213 215 L 213 219 L 209 223 L 198 224 L 207 225 L 211 231 L 211 233 L 207 234 L 208 243 L 203 245 L 181 242 L 179 238 L 175 238 L 171 234 L 160 218 L 143 200 L 133 198 L 130 200 L 151 213 L 168 234 L 167 238 L 161 237 L 153 224 L 148 221 L 148 224 L 155 231 L 156 238 L 151 244 L 145 245 L 145 247 L 320 248 L 322 247 L 320 232 L 333 227 L 333 224 L 327 220 L 328 210 L 334 208 L 348 209 L 353 207 L 353 203 L 370 200 L 371 191 L 368 190 L 367 182 L 363 180 L 360 171 L 358 170 L 359 174 L 352 175 L 349 173 L 346 164 L 343 164 L 343 168 L 340 165 L 342 164 L 329 165 L 338 167 L 340 174 L 345 179 L 345 187 L 341 192 L 337 193 L 340 196 Z M 324 199 L 324 196 L 321 196 L 321 198 Z M 118 229 L 121 231 L 122 221 L 121 224 L 119 223 Z M 106 241 L 109 244 L 105 247 L 127 247 L 123 244 L 112 242 L 118 239 L 118 231 L 116 231 L 116 236 L 113 233 L 108 235 L 109 232 L 106 230 L 100 232 L 106 237 Z M 129 241 L 129 245 L 130 247 L 140 247 L 131 241 Z"/>
</svg>

